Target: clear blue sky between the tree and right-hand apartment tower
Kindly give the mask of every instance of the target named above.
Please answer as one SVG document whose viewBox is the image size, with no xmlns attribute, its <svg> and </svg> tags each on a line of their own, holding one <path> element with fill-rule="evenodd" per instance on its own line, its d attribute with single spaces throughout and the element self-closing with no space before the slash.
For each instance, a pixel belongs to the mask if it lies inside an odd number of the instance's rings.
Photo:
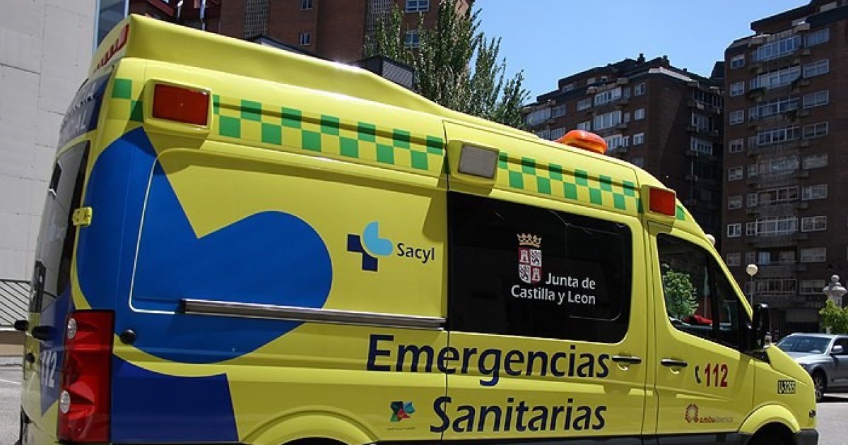
<svg viewBox="0 0 848 445">
<path fill-rule="evenodd" d="M 808 0 L 477 0 L 480 31 L 500 37 L 511 77 L 524 70 L 536 97 L 568 75 L 623 58 L 668 56 L 709 77 L 724 50 L 750 36 L 750 22 Z"/>
</svg>

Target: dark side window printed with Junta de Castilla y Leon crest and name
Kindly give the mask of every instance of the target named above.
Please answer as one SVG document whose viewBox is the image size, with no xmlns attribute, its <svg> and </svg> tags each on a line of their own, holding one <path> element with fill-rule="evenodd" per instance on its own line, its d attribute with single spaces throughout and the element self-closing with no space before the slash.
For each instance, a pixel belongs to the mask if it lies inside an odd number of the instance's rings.
<svg viewBox="0 0 848 445">
<path fill-rule="evenodd" d="M 628 329 L 627 225 L 450 193 L 449 329 L 619 342 Z"/>
</svg>

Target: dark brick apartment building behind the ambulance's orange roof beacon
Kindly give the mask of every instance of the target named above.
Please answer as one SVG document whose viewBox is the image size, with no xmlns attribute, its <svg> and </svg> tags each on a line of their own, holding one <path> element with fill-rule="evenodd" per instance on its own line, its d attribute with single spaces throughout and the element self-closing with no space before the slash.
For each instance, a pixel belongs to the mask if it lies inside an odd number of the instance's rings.
<svg viewBox="0 0 848 445">
<path fill-rule="evenodd" d="M 560 79 L 556 90 L 525 107 L 525 123 L 550 140 L 575 129 L 598 133 L 608 155 L 656 175 L 718 238 L 721 65 L 704 77 L 672 66 L 665 56 L 625 58 Z"/>
</svg>

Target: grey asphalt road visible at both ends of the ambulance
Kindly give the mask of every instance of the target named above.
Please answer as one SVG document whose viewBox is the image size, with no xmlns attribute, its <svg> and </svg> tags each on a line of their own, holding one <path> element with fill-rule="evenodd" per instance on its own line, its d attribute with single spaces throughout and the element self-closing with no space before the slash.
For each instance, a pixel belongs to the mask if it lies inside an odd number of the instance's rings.
<svg viewBox="0 0 848 445">
<path fill-rule="evenodd" d="M 0 444 L 18 440 L 20 416 L 20 366 L 0 361 Z M 818 443 L 848 445 L 845 419 L 848 419 L 848 394 L 828 394 L 818 403 Z"/>
</svg>

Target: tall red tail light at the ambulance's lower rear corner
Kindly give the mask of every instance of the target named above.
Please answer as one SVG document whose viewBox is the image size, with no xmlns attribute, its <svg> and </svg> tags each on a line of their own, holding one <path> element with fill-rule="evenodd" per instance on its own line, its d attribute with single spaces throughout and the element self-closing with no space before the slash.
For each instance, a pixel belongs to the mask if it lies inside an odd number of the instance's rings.
<svg viewBox="0 0 848 445">
<path fill-rule="evenodd" d="M 109 442 L 114 314 L 80 310 L 68 315 L 59 387 L 59 439 Z"/>
</svg>

